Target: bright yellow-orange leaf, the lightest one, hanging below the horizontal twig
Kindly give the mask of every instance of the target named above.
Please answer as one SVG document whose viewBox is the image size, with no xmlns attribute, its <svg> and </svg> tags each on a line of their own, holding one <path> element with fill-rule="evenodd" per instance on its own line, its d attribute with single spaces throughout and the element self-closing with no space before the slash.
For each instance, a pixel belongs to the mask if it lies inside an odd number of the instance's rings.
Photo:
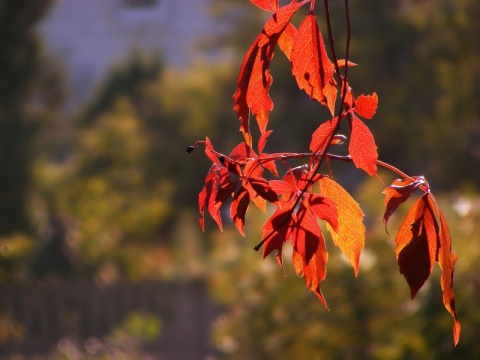
<svg viewBox="0 0 480 360">
<path fill-rule="evenodd" d="M 319 181 L 320 194 L 333 200 L 338 213 L 338 231 L 327 223 L 333 242 L 348 258 L 358 275 L 360 253 L 365 245 L 363 212 L 350 194 L 334 180 L 322 177 Z"/>
</svg>

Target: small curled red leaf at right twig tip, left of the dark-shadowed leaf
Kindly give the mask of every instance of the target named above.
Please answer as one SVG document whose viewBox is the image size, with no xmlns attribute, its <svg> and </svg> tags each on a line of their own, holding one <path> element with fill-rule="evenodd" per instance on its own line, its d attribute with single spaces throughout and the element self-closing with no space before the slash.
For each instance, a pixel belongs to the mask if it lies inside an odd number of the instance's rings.
<svg viewBox="0 0 480 360">
<path fill-rule="evenodd" d="M 405 202 L 415 189 L 424 183 L 425 180 L 423 176 L 414 177 L 412 179 L 397 179 L 383 190 L 382 194 L 385 194 L 385 213 L 383 215 L 385 229 L 387 228 L 388 219 L 395 210 L 397 210 L 398 206 Z"/>
</svg>

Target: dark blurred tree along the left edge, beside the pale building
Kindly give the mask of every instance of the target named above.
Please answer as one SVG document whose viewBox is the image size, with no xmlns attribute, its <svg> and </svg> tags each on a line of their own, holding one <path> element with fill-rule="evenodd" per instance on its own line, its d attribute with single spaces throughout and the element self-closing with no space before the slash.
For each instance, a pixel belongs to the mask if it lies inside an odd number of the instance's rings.
<svg viewBox="0 0 480 360">
<path fill-rule="evenodd" d="M 34 27 L 50 0 L 0 2 L 0 235 L 31 232 L 27 191 L 38 130 L 40 42 Z"/>
</svg>

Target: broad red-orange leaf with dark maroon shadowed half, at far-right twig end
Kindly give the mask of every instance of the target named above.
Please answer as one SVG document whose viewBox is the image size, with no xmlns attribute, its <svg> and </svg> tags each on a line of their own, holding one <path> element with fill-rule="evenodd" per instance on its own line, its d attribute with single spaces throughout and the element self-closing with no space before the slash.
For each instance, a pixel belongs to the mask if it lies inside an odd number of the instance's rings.
<svg viewBox="0 0 480 360">
<path fill-rule="evenodd" d="M 438 224 L 428 195 L 410 208 L 395 237 L 400 273 L 412 299 L 430 276 L 438 251 Z"/>
</svg>

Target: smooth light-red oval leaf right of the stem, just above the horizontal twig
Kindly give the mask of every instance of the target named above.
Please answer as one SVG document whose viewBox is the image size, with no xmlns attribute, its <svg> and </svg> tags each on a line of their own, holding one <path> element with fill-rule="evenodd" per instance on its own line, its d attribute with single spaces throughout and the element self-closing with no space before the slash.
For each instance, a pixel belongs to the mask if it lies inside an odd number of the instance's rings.
<svg viewBox="0 0 480 360">
<path fill-rule="evenodd" d="M 353 163 L 367 174 L 376 176 L 378 159 L 377 145 L 368 127 L 352 114 L 352 132 L 348 147 Z"/>
</svg>

